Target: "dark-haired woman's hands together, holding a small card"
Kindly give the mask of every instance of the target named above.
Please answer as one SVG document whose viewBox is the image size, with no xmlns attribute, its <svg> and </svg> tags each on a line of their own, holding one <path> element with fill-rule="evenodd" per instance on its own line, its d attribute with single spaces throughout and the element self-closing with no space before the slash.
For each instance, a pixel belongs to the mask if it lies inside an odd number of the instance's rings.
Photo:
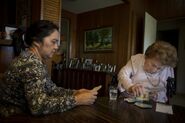
<svg viewBox="0 0 185 123">
<path fill-rule="evenodd" d="M 98 90 L 101 86 L 97 86 L 92 90 L 80 89 L 77 90 L 75 95 L 75 100 L 77 105 L 90 105 L 93 104 L 97 98 Z"/>
</svg>

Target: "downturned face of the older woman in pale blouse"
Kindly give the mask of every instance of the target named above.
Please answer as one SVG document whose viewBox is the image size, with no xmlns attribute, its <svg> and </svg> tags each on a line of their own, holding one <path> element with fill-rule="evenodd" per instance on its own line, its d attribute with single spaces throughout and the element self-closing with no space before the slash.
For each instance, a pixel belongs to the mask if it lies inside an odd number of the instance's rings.
<svg viewBox="0 0 185 123">
<path fill-rule="evenodd" d="M 144 63 L 144 70 L 148 73 L 156 73 L 163 68 L 161 62 L 156 58 L 146 58 Z"/>
</svg>

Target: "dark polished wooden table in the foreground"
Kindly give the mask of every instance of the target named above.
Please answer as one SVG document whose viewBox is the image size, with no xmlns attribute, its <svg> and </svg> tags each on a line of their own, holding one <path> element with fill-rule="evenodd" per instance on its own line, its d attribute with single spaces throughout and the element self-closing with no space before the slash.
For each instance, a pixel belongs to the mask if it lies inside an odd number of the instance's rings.
<svg viewBox="0 0 185 123">
<path fill-rule="evenodd" d="M 98 98 L 91 106 L 78 106 L 63 113 L 45 116 L 27 114 L 1 118 L 0 123 L 185 123 L 185 108 L 173 106 L 173 115 L 141 109 L 123 99 L 110 102 L 107 97 Z"/>
</svg>

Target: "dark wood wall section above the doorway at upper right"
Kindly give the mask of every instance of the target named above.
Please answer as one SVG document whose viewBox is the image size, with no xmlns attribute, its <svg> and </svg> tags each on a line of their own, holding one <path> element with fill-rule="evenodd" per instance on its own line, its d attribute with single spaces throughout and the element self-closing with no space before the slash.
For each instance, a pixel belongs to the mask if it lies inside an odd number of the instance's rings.
<svg viewBox="0 0 185 123">
<path fill-rule="evenodd" d="M 184 0 L 145 0 L 146 11 L 158 20 L 184 18 Z"/>
</svg>

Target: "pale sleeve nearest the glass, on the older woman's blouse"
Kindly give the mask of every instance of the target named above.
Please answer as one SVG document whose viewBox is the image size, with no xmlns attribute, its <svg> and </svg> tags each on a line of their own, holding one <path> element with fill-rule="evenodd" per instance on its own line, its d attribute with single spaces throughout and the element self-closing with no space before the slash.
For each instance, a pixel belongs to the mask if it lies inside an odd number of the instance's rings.
<svg viewBox="0 0 185 123">
<path fill-rule="evenodd" d="M 121 70 L 118 73 L 118 87 L 120 91 L 124 91 L 129 89 L 133 85 L 131 76 L 133 75 L 133 67 L 131 60 L 127 62 L 127 64 L 121 68 Z"/>
</svg>

